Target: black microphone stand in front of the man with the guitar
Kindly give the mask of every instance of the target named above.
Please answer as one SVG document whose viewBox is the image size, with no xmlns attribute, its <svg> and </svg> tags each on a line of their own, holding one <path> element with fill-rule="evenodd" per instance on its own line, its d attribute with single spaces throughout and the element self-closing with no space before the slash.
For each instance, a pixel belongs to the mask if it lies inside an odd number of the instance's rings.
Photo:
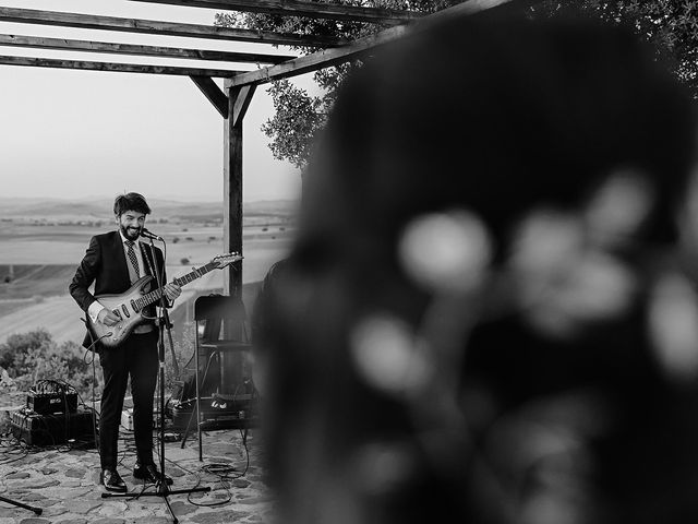
<svg viewBox="0 0 698 524">
<path fill-rule="evenodd" d="M 149 238 L 149 237 L 148 237 Z M 157 263 L 157 257 L 155 255 L 155 245 L 153 243 L 153 238 L 151 240 L 151 259 L 153 260 L 153 271 L 155 273 L 155 281 L 157 283 L 157 288 L 163 289 L 164 283 L 163 277 L 160 275 L 160 267 Z M 161 240 L 161 239 L 160 239 Z M 165 258 L 163 258 L 163 266 L 165 266 Z M 101 493 L 101 498 L 106 499 L 108 497 L 163 497 L 165 504 L 167 505 L 167 511 L 169 511 L 170 516 L 172 517 L 172 523 L 178 524 L 179 520 L 174 515 L 172 511 L 172 507 L 170 505 L 170 501 L 168 497 L 170 495 L 180 495 L 180 493 L 193 493 L 193 492 L 206 492 L 210 491 L 210 487 L 204 488 L 186 488 L 186 489 L 170 489 L 167 486 L 166 475 L 165 475 L 165 330 L 167 330 L 168 338 L 170 342 L 170 349 L 172 352 L 172 358 L 174 358 L 174 346 L 172 344 L 172 333 L 170 331 L 171 323 L 169 315 L 167 313 L 167 299 L 165 298 L 165 291 L 161 291 L 160 295 L 160 315 L 158 318 L 158 338 L 157 338 L 157 355 L 159 360 L 159 376 L 158 376 L 158 384 L 159 384 L 159 403 L 160 403 L 160 415 L 159 415 L 159 461 L 160 461 L 160 478 L 155 484 L 155 491 L 145 491 L 142 493 Z M 177 361 L 174 359 L 174 361 Z M 177 364 L 174 365 L 177 366 Z"/>
</svg>

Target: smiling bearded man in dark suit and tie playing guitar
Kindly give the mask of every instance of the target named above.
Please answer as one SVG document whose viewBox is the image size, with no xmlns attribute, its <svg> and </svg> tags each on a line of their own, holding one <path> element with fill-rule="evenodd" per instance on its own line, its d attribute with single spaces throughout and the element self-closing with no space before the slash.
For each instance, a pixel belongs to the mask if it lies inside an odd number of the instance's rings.
<svg viewBox="0 0 698 524">
<path fill-rule="evenodd" d="M 155 264 L 158 264 L 165 282 L 163 252 L 155 248 L 156 260 L 153 260 L 151 249 L 139 241 L 145 217 L 151 213 L 145 198 L 139 193 L 121 194 L 115 200 L 113 213 L 118 229 L 92 237 L 69 286 L 71 296 L 88 315 L 88 324 L 107 327 L 116 326 L 121 319 L 115 311 L 104 307 L 95 295 L 127 291 L 139 278 L 154 276 Z M 94 295 L 88 289 L 93 282 Z M 181 288 L 178 284 L 170 283 L 163 287 L 163 291 L 172 301 L 179 297 Z M 99 483 L 108 491 L 127 491 L 127 485 L 117 472 L 117 455 L 119 424 L 129 376 L 137 455 L 133 476 L 146 483 L 156 483 L 159 478 L 153 461 L 153 394 L 158 371 L 158 330 L 153 320 L 154 307 L 148 308 L 153 310 L 143 310 L 145 322 L 133 327 L 118 347 L 93 341 L 94 330 L 88 331 L 83 343 L 85 347 L 94 344 L 104 371 L 105 385 L 99 415 Z M 171 484 L 171 479 L 168 478 L 167 481 Z"/>
</svg>

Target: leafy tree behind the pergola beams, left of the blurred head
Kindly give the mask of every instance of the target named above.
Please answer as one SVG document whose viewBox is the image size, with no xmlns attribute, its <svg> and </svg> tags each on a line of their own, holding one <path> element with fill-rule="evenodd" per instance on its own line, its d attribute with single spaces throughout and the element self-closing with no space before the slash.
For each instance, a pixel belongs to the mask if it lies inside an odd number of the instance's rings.
<svg viewBox="0 0 698 524">
<path fill-rule="evenodd" d="M 409 9 L 424 13 L 438 11 L 460 0 L 366 0 L 362 5 L 385 9 Z M 328 3 L 357 4 L 351 0 L 328 0 Z M 334 20 L 315 20 L 297 16 L 277 16 L 258 13 L 240 13 L 238 15 L 218 13 L 216 25 L 226 27 L 246 27 L 257 31 L 280 33 L 298 33 L 316 36 L 333 36 L 357 39 L 382 31 L 377 24 L 360 22 L 341 22 Z M 293 47 L 301 55 L 320 50 L 317 47 Z M 288 160 L 299 169 L 303 169 L 310 157 L 317 132 L 324 127 L 337 88 L 360 61 L 347 62 L 338 67 L 316 71 L 313 80 L 321 94 L 312 95 L 305 90 L 294 86 L 288 80 L 272 82 L 267 93 L 272 95 L 275 115 L 262 126 L 262 131 L 272 139 L 269 148 L 275 158 Z"/>
</svg>

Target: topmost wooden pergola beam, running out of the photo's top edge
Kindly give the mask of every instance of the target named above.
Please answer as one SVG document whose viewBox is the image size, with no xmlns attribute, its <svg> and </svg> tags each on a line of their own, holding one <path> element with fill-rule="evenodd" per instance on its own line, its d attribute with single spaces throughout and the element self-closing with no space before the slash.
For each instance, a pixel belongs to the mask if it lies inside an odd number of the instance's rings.
<svg viewBox="0 0 698 524">
<path fill-rule="evenodd" d="M 226 11 L 246 11 L 253 13 L 277 14 L 281 16 L 308 16 L 311 19 L 330 19 L 347 22 L 371 22 L 396 25 L 423 16 L 417 11 L 396 9 L 365 8 L 336 3 L 309 2 L 302 0 L 131 0 L 147 3 L 166 3 L 189 8 L 206 8 Z"/>
</svg>

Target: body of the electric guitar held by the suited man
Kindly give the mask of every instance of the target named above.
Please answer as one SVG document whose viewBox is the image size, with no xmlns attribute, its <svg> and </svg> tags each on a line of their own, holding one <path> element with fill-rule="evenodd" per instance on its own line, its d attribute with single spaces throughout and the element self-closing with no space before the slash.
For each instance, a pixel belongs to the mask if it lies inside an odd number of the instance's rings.
<svg viewBox="0 0 698 524">
<path fill-rule="evenodd" d="M 109 309 L 119 319 L 116 325 L 105 325 L 101 322 L 93 322 L 87 315 L 87 327 L 94 340 L 105 347 L 117 347 L 131 334 L 136 325 L 147 322 L 142 314 L 144 308 L 136 305 L 136 300 L 149 291 L 153 277 L 149 275 L 139 278 L 124 293 L 117 295 L 99 295 L 95 297 L 105 308 Z M 147 307 L 147 306 L 146 306 Z"/>
</svg>

